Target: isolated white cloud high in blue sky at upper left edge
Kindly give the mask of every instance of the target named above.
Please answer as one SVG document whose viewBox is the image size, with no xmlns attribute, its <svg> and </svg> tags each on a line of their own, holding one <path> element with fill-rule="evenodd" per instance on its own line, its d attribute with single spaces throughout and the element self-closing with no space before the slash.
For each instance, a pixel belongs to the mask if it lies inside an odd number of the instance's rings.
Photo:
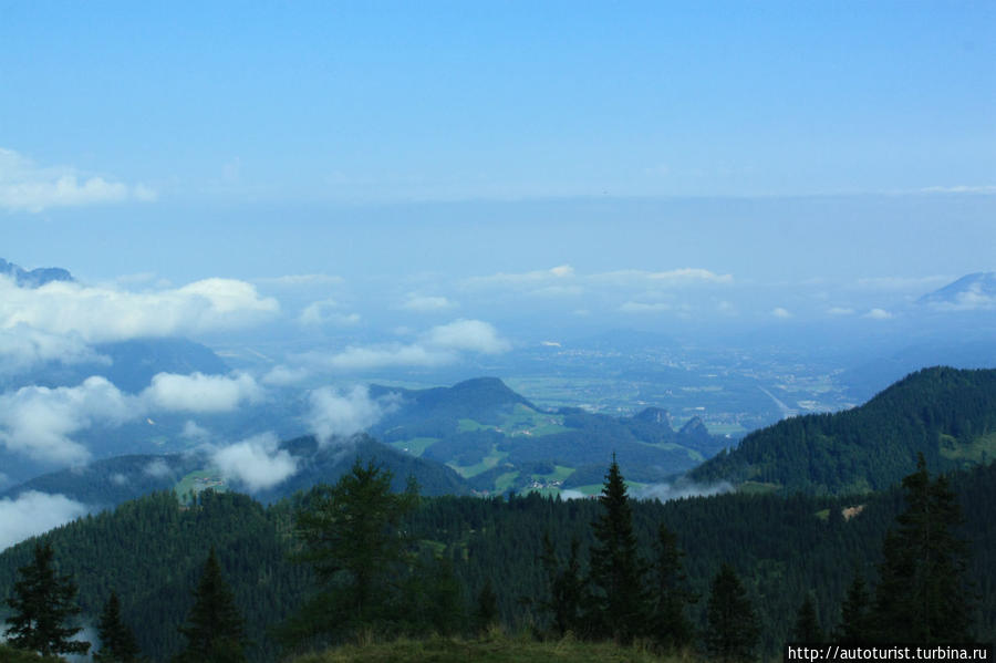
<svg viewBox="0 0 996 663">
<path fill-rule="evenodd" d="M 42 167 L 12 149 L 0 148 L 0 208 L 39 213 L 52 207 L 151 201 L 156 191 L 64 166 Z"/>
</svg>

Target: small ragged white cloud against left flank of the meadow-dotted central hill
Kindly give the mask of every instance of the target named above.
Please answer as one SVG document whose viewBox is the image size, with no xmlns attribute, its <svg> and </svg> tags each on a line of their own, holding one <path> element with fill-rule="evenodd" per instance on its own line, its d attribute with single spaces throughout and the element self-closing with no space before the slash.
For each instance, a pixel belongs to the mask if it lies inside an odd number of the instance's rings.
<svg viewBox="0 0 996 663">
<path fill-rule="evenodd" d="M 320 444 L 370 428 L 397 405 L 394 397 L 373 400 L 362 385 L 349 392 L 322 387 L 309 395 L 308 425 Z"/>
</svg>

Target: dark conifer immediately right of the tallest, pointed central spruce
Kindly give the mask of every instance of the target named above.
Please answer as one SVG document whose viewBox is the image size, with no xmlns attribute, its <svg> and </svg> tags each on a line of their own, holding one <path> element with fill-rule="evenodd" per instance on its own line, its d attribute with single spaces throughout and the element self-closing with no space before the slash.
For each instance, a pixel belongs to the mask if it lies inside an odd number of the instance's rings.
<svg viewBox="0 0 996 663">
<path fill-rule="evenodd" d="M 656 558 L 652 568 L 654 577 L 651 635 L 657 646 L 676 650 L 692 643 L 694 629 L 685 614 L 685 607 L 697 597 L 688 589 L 682 568 L 684 552 L 678 549 L 677 537 L 661 525 L 657 529 Z"/>
</svg>

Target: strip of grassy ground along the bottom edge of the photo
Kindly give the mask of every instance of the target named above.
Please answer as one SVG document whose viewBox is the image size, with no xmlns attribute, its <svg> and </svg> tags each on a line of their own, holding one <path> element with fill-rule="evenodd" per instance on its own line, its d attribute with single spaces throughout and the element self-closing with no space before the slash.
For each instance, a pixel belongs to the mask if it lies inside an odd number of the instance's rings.
<svg viewBox="0 0 996 663">
<path fill-rule="evenodd" d="M 695 659 L 663 657 L 637 646 L 619 646 L 611 642 L 579 642 L 564 638 L 557 642 L 537 642 L 509 636 L 484 640 L 395 640 L 371 644 L 349 644 L 324 652 L 304 654 L 289 663 L 549 663 L 550 661 L 604 661 L 609 663 L 692 663 Z"/>
</svg>

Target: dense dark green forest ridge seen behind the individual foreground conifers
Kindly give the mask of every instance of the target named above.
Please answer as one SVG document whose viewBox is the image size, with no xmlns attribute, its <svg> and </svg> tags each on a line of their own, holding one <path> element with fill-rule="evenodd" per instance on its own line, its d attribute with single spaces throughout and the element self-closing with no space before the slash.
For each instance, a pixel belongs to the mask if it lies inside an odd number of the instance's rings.
<svg viewBox="0 0 996 663">
<path fill-rule="evenodd" d="M 952 487 L 965 510 L 958 529 L 971 548 L 968 576 L 982 592 L 974 624 L 986 640 L 996 635 L 996 466 L 952 476 Z M 61 572 L 80 587 L 86 615 L 100 614 L 112 589 L 121 595 L 123 621 L 133 625 L 144 653 L 163 659 L 177 652 L 203 560 L 211 546 L 247 620 L 256 661 L 274 660 L 276 643 L 267 629 L 291 614 L 313 584 L 310 571 L 288 561 L 294 548 L 292 504 L 270 507 L 238 494 L 206 493 L 198 504 L 181 507 L 172 493 L 129 501 L 115 511 L 90 516 L 53 530 L 41 540 L 55 551 Z M 847 507 L 863 507 L 844 519 Z M 677 535 L 686 552 L 688 581 L 706 595 L 724 562 L 741 578 L 757 608 L 761 629 L 759 652 L 777 654 L 796 621 L 799 604 L 812 592 L 820 626 L 830 631 L 860 569 L 875 582 L 875 564 L 886 530 L 903 508 L 898 488 L 880 495 L 836 498 L 795 495 L 723 495 L 667 504 L 634 503 L 633 522 L 640 553 L 650 559 L 660 526 Z M 578 538 L 582 563 L 592 542 L 591 524 L 600 507 L 594 500 L 559 501 L 526 497 L 425 498 L 407 520 L 412 536 L 432 542 L 452 560 L 463 584 L 465 603 L 478 597 L 488 580 L 497 594 L 501 621 L 521 628 L 544 619 L 538 610 L 544 574 L 543 532 L 566 561 L 569 542 Z M 829 514 L 829 516 L 828 516 Z M 29 560 L 34 541 L 0 555 L 0 598 L 10 592 L 17 569 Z M 696 626 L 704 623 L 703 601 L 693 607 Z M 258 635 L 258 636 L 257 636 Z"/>
</svg>

